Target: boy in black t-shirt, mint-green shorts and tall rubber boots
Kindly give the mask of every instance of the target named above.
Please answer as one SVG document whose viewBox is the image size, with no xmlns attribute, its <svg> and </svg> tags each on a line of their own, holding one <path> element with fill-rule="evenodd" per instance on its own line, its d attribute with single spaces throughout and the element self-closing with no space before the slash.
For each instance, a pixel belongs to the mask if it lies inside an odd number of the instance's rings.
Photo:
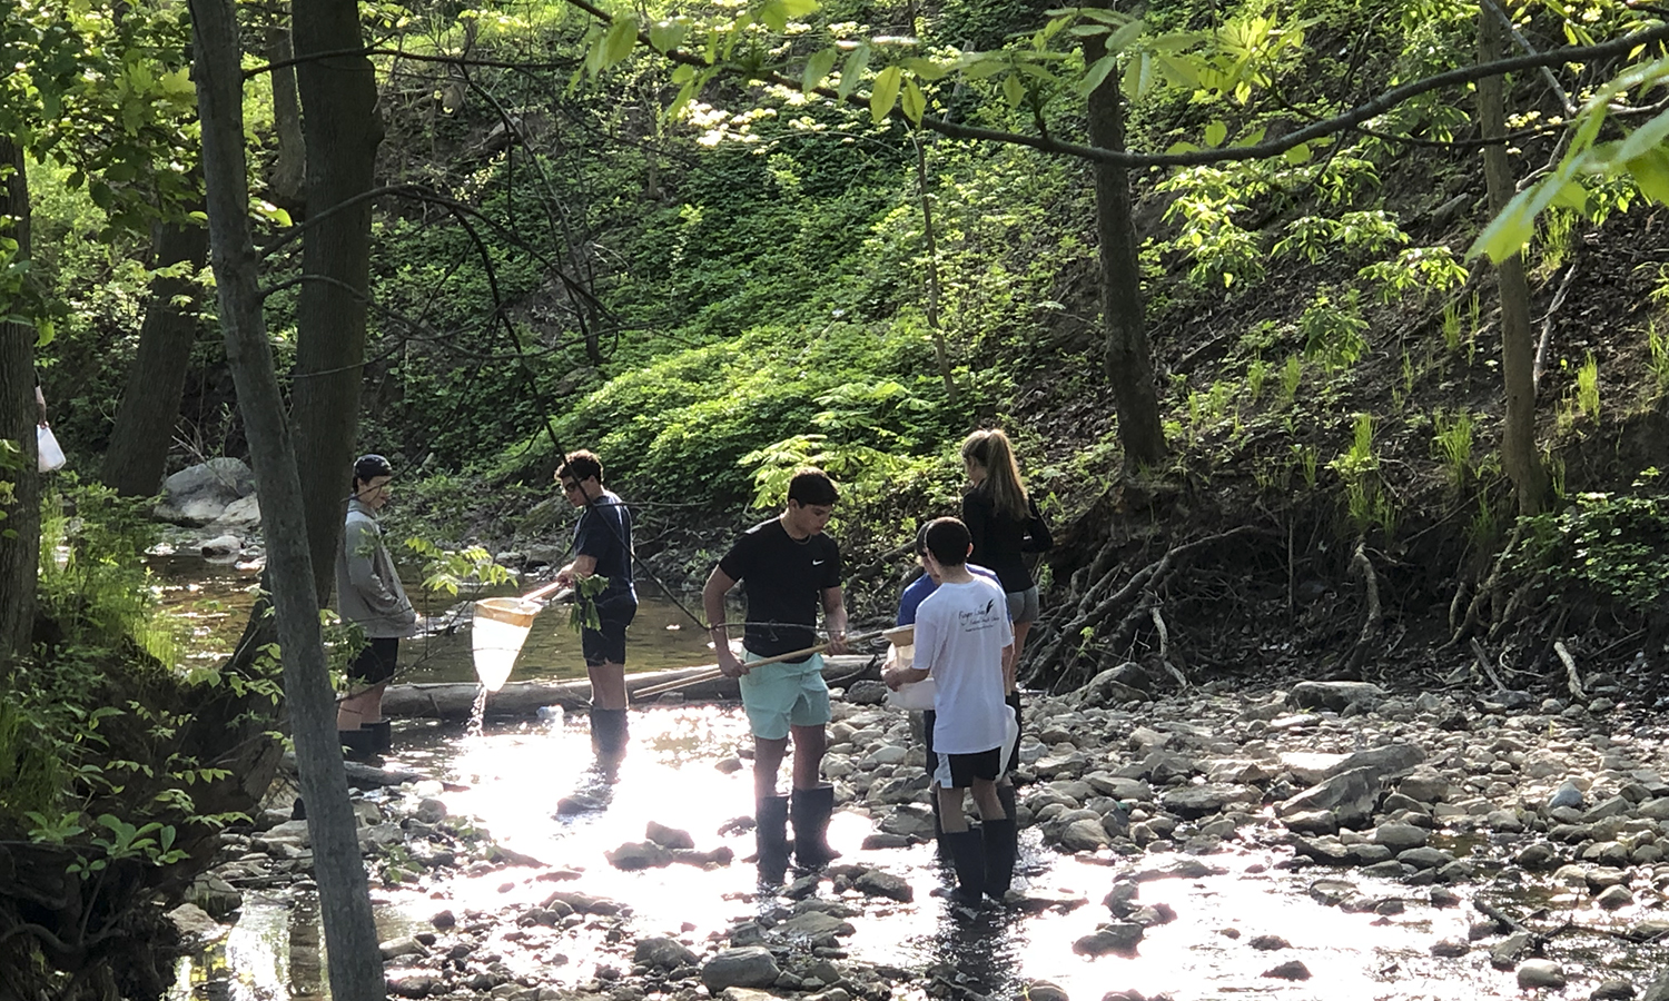
<svg viewBox="0 0 1669 1001">
<path fill-rule="evenodd" d="M 781 883 L 788 869 L 788 819 L 794 824 L 794 858 L 816 869 L 834 858 L 828 846 L 834 787 L 821 782 L 828 746 L 829 689 L 823 656 L 768 664 L 748 662 L 816 646 L 818 606 L 828 622 L 829 652 L 846 651 L 846 604 L 841 597 L 840 546 L 823 534 L 838 492 L 819 470 L 801 470 L 788 485 L 788 507 L 761 522 L 724 554 L 708 577 L 701 602 L 708 614 L 719 671 L 741 679 L 741 701 L 753 731 L 753 787 L 759 878 Z M 729 649 L 724 596 L 746 584 L 746 659 Z M 776 794 L 776 772 L 794 737 L 793 802 Z M 791 807 L 791 809 L 789 809 Z"/>
</svg>

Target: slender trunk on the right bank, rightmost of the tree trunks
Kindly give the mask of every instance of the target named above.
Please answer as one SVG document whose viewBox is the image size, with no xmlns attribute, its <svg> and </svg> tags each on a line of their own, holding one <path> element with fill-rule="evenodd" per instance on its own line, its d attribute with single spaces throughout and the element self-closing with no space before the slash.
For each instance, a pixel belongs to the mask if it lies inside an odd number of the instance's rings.
<svg viewBox="0 0 1669 1001">
<path fill-rule="evenodd" d="M 1505 50 L 1505 28 L 1487 5 L 1477 13 L 1477 48 L 1479 62 L 1494 62 Z M 1477 110 L 1484 138 L 1507 135 L 1502 77 L 1477 82 Z M 1505 143 L 1484 147 L 1484 180 L 1489 185 L 1489 214 L 1500 215 L 1515 192 Z M 1495 287 L 1500 295 L 1500 377 L 1507 402 L 1500 464 L 1519 497 L 1519 514 L 1535 514 L 1547 494 L 1547 470 L 1535 454 L 1535 339 L 1530 332 L 1530 284 L 1524 277 L 1522 254 L 1497 265 Z"/>
</svg>

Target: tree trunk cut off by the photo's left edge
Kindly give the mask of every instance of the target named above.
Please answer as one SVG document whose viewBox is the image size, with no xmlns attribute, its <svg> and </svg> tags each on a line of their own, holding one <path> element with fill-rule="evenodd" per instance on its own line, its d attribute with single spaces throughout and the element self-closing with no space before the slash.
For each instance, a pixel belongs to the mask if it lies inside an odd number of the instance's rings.
<svg viewBox="0 0 1669 1001">
<path fill-rule="evenodd" d="M 28 260 L 28 175 L 23 148 L 0 135 L 0 237 Z M 27 280 L 27 277 L 25 277 Z M 12 312 L 12 310 L 3 310 Z M 0 465 L 0 682 L 28 656 L 40 569 L 40 474 L 35 470 L 35 329 L 0 320 L 0 439 L 20 445 L 18 467 Z"/>
</svg>

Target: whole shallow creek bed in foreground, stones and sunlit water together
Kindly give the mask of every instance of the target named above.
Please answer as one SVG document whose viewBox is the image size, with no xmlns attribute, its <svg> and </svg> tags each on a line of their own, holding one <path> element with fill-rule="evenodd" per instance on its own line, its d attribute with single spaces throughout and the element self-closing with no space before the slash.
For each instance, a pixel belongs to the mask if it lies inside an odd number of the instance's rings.
<svg viewBox="0 0 1669 1001">
<path fill-rule="evenodd" d="M 1016 889 L 980 913 L 931 894 L 920 744 L 873 682 L 836 701 L 824 762 L 843 858 L 776 891 L 738 861 L 734 709 L 634 712 L 616 776 L 574 752 L 582 719 L 557 719 L 489 734 L 477 759 L 447 757 L 452 731 L 402 726 L 397 742 L 427 751 L 352 777 L 402 998 L 1666 1001 L 1661 729 L 1604 677 L 1587 694 L 1218 682 L 1123 701 L 1108 676 L 1030 696 Z M 501 787 L 494 762 L 517 756 L 537 787 Z M 287 797 L 225 834 L 177 913 L 187 936 L 305 906 Z M 539 834 L 494 838 L 489 812 Z M 204 956 L 179 994 L 240 996 Z"/>
</svg>

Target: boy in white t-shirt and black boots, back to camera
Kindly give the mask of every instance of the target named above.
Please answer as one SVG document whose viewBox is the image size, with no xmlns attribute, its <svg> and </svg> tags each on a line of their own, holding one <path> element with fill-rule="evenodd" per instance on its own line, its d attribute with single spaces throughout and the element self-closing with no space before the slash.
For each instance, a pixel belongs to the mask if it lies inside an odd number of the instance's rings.
<svg viewBox="0 0 1669 1001">
<path fill-rule="evenodd" d="M 915 667 L 885 674 L 890 687 L 931 676 L 933 789 L 945 844 L 956 868 L 956 896 L 996 899 L 1013 878 L 1013 822 L 996 796 L 1011 741 L 1018 736 L 1005 701 L 1003 664 L 1015 642 L 1003 589 L 968 571 L 973 539 L 953 517 L 928 524 L 923 562 L 940 587 L 916 609 Z M 968 829 L 963 792 L 973 791 L 983 827 Z"/>
</svg>

